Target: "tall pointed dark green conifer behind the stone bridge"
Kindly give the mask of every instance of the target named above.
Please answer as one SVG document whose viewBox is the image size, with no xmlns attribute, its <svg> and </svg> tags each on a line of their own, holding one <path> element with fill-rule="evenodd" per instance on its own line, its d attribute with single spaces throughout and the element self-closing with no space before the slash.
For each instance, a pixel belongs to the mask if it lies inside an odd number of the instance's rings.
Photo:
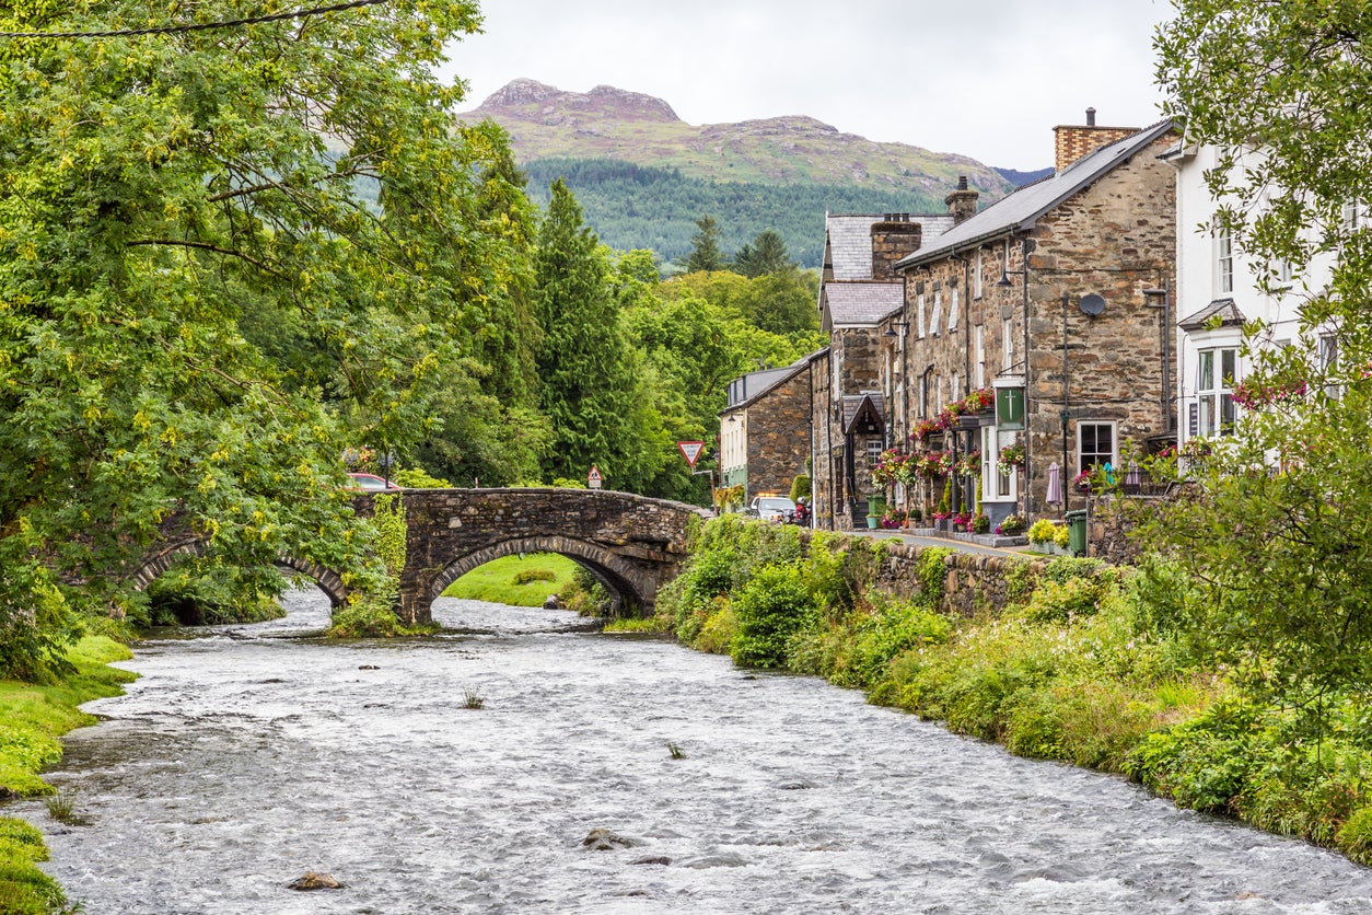
<svg viewBox="0 0 1372 915">
<path fill-rule="evenodd" d="M 543 329 L 541 406 L 553 428 L 543 477 L 584 477 L 595 464 L 613 488 L 639 491 L 656 472 L 652 396 L 620 326 L 609 258 L 567 185 L 552 202 L 534 257 Z"/>
</svg>

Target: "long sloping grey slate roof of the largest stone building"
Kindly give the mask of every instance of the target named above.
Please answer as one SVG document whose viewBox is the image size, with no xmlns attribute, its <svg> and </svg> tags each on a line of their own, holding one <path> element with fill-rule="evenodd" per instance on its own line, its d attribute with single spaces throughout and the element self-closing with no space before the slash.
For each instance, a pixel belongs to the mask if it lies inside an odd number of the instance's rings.
<svg viewBox="0 0 1372 915">
<path fill-rule="evenodd" d="M 1174 126 L 1170 118 L 1159 121 L 1151 128 L 1139 130 L 1124 140 L 1100 147 L 1056 174 L 1041 181 L 1034 181 L 1033 184 L 1026 184 L 1010 196 L 992 203 L 977 215 L 934 239 L 926 240 L 918 251 L 901 258 L 896 263 L 896 268 L 910 268 L 918 263 L 938 261 L 959 248 L 967 248 L 1000 237 L 1008 232 L 1032 229 L 1039 217 L 1124 165 L 1135 154 L 1147 150 L 1148 144 L 1166 134 Z"/>
</svg>

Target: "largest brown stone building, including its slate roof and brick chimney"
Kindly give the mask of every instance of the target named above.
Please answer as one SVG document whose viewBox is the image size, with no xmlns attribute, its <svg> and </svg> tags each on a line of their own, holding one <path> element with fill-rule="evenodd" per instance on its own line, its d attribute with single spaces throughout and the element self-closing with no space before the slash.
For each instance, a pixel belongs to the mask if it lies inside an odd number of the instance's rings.
<svg viewBox="0 0 1372 915">
<path fill-rule="evenodd" d="M 1170 122 L 1122 132 L 1058 128 L 1059 150 L 1089 151 L 897 263 L 904 307 L 877 336 L 895 438 L 908 440 L 971 391 L 997 391 L 1011 416 L 986 412 L 956 433 L 959 451 L 982 455 L 977 482 L 993 524 L 1081 508 L 1070 486 L 1080 471 L 1121 466 L 1126 440 L 1143 447 L 1174 428 L 1159 294 L 1174 283 L 1174 181 L 1159 155 L 1176 132 Z M 996 455 L 1010 444 L 1025 446 L 1026 466 L 1002 475 Z M 1063 501 L 1050 505 L 1052 465 Z M 970 505 L 978 487 L 962 495 Z M 927 506 L 937 494 L 916 498 Z"/>
</svg>

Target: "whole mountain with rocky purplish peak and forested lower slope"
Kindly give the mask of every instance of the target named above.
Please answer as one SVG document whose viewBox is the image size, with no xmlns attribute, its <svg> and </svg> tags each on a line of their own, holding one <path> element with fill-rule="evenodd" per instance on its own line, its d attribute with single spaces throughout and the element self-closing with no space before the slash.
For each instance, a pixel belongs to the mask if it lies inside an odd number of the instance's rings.
<svg viewBox="0 0 1372 915">
<path fill-rule="evenodd" d="M 960 176 L 984 204 L 1017 187 L 969 156 L 875 143 L 807 117 L 690 125 L 667 102 L 613 86 L 564 92 L 514 80 L 458 118 L 505 128 L 531 196 L 546 202 L 561 176 L 601 240 L 667 261 L 690 250 L 701 215 L 715 217 L 726 252 L 771 228 L 803 266 L 818 266 L 826 211 L 943 213 Z"/>
</svg>

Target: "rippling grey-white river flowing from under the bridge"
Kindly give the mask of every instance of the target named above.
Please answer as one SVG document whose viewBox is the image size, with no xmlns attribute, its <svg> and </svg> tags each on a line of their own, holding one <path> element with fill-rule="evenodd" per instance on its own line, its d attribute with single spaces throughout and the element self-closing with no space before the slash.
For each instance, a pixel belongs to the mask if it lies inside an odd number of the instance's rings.
<svg viewBox="0 0 1372 915">
<path fill-rule="evenodd" d="M 91 915 L 1372 911 L 1339 855 L 816 679 L 471 601 L 435 615 L 479 634 L 269 638 L 325 623 L 289 609 L 137 652 L 51 775 L 88 824 L 7 805 Z"/>
</svg>

